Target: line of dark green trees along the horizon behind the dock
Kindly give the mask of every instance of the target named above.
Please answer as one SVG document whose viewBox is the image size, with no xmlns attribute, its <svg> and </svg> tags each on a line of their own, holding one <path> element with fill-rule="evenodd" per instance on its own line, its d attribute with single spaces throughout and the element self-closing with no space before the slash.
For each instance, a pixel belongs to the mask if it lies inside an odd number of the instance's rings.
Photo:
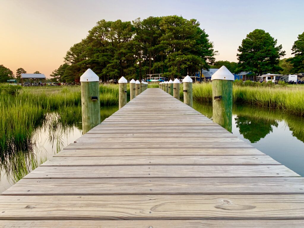
<svg viewBox="0 0 304 228">
<path fill-rule="evenodd" d="M 291 58 L 282 59 L 285 56 L 282 45 L 262 29 L 255 29 L 242 40 L 238 62 L 215 62 L 216 53 L 208 34 L 195 19 L 163 16 L 138 18 L 132 22 L 101 20 L 85 39 L 67 51 L 64 64 L 50 76 L 53 81 L 78 82 L 91 68 L 102 81 L 122 76 L 142 79 L 146 74 L 163 74 L 174 79 L 223 65 L 232 73 L 303 73 L 304 32 L 294 42 L 294 57 Z M 18 81 L 21 73 L 26 71 L 18 68 Z M 0 82 L 14 77 L 10 69 L 0 65 Z"/>
</svg>

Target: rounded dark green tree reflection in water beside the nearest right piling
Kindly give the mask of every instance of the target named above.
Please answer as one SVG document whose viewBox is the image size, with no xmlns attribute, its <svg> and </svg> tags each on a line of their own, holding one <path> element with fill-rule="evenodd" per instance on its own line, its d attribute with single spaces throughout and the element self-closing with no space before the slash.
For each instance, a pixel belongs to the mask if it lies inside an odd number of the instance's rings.
<svg viewBox="0 0 304 228">
<path fill-rule="evenodd" d="M 234 118 L 240 134 L 251 143 L 256 143 L 272 132 L 272 126 L 278 126 L 275 120 L 265 121 L 255 117 L 237 116 Z"/>
</svg>

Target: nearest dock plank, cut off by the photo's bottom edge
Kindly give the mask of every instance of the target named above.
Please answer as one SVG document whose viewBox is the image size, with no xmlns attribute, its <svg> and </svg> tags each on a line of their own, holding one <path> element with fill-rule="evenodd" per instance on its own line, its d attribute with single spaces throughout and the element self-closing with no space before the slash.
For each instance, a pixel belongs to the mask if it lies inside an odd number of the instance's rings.
<svg viewBox="0 0 304 228">
<path fill-rule="evenodd" d="M 0 220 L 3 228 L 304 228 L 304 220 Z"/>
</svg>

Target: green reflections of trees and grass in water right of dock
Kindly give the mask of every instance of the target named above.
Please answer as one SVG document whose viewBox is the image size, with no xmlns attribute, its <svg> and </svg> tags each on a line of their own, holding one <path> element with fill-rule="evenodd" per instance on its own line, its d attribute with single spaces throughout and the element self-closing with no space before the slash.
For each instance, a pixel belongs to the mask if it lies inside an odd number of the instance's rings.
<svg viewBox="0 0 304 228">
<path fill-rule="evenodd" d="M 194 102 L 193 108 L 208 118 L 212 118 L 212 105 Z M 237 127 L 244 138 L 251 143 L 259 141 L 272 132 L 273 126 L 278 126 L 278 121 L 284 120 L 292 135 L 304 142 L 304 118 L 292 116 L 279 109 L 233 105 L 232 109 Z"/>
</svg>

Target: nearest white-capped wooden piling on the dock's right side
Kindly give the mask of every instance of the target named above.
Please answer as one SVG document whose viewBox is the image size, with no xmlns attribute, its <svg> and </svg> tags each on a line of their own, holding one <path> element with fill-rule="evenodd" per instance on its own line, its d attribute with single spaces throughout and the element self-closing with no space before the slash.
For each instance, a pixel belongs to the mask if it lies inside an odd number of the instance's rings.
<svg viewBox="0 0 304 228">
<path fill-rule="evenodd" d="M 234 76 L 222 66 L 211 78 L 213 122 L 232 132 L 232 86 Z"/>
</svg>

